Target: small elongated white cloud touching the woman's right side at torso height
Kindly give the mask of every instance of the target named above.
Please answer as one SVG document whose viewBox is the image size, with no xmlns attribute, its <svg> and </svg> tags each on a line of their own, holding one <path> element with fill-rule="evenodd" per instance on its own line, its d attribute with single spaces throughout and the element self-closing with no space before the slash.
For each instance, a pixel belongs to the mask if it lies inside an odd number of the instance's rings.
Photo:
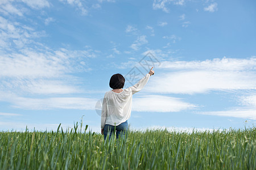
<svg viewBox="0 0 256 170">
<path fill-rule="evenodd" d="M 138 112 L 180 112 L 196 108 L 176 97 L 144 95 L 133 99 L 133 111 Z"/>
</svg>

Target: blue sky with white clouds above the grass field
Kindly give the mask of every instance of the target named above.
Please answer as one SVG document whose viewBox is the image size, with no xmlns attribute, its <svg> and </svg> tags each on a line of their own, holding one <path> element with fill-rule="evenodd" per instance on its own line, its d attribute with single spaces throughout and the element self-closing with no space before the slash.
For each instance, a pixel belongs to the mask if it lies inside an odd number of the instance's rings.
<svg viewBox="0 0 256 170">
<path fill-rule="evenodd" d="M 131 128 L 253 125 L 255 15 L 255 1 L 3 0 L 0 130 L 73 127 L 84 115 L 100 131 L 110 77 L 129 87 L 150 65 Z"/>
</svg>

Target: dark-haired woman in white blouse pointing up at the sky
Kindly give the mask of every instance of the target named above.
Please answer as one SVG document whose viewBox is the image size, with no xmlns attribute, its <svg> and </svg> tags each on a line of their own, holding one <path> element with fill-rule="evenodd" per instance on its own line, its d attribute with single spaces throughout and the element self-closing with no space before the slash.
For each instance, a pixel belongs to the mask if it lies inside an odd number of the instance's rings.
<svg viewBox="0 0 256 170">
<path fill-rule="evenodd" d="M 108 133 L 111 137 L 114 130 L 117 131 L 117 138 L 122 133 L 125 135 L 128 130 L 127 120 L 131 116 L 131 101 L 133 95 L 147 84 L 155 71 L 149 71 L 137 84 L 123 90 L 125 78 L 121 74 L 114 74 L 110 78 L 109 86 L 113 88 L 105 93 L 101 109 L 101 134 L 106 139 Z M 115 132 L 114 132 L 115 133 Z"/>
</svg>

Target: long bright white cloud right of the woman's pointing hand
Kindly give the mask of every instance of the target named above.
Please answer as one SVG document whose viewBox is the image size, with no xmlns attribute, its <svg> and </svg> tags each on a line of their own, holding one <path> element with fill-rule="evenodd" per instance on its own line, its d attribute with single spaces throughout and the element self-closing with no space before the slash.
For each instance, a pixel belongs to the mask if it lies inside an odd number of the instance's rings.
<svg viewBox="0 0 256 170">
<path fill-rule="evenodd" d="M 256 74 L 236 71 L 179 71 L 152 80 L 148 90 L 164 94 L 256 89 Z"/>
</svg>

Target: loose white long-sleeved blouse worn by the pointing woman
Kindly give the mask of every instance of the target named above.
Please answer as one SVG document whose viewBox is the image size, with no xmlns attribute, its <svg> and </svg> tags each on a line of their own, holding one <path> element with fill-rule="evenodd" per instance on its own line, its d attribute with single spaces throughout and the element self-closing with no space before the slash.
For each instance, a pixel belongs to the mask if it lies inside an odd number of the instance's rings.
<svg viewBox="0 0 256 170">
<path fill-rule="evenodd" d="M 147 84 L 150 74 L 146 74 L 134 86 L 126 88 L 120 93 L 107 91 L 104 95 L 101 109 L 101 128 L 105 124 L 118 126 L 131 117 L 131 101 L 133 95 Z"/>
</svg>

